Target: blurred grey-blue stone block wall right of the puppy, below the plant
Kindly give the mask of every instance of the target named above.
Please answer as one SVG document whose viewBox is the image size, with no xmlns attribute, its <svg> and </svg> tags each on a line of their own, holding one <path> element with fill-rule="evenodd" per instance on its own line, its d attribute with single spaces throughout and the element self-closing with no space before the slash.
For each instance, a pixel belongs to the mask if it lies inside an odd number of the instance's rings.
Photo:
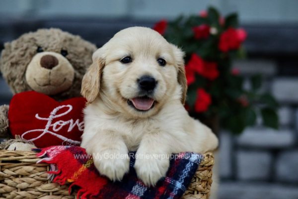
<svg viewBox="0 0 298 199">
<path fill-rule="evenodd" d="M 274 59 L 250 59 L 234 67 L 245 76 L 263 74 L 263 89 L 280 103 L 280 129 L 262 126 L 259 117 L 239 136 L 221 133 L 219 198 L 298 199 L 298 78 L 280 76 L 283 66 Z"/>
</svg>

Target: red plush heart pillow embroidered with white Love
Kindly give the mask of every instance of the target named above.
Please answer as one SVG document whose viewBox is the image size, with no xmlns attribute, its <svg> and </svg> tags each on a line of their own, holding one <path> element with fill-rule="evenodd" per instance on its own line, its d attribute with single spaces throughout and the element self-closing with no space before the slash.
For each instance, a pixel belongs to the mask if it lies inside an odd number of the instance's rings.
<svg viewBox="0 0 298 199">
<path fill-rule="evenodd" d="M 79 145 L 83 133 L 84 98 L 62 102 L 34 91 L 12 97 L 8 120 L 11 134 L 32 141 L 37 147 Z"/>
</svg>

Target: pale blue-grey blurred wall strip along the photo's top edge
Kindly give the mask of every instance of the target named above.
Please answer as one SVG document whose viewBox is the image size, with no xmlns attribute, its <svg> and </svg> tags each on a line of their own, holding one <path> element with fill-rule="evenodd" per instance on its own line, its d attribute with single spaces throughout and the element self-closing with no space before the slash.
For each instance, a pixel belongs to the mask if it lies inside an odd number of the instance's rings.
<svg viewBox="0 0 298 199">
<path fill-rule="evenodd" d="M 297 0 L 0 0 L 0 14 L 160 19 L 196 14 L 208 6 L 224 14 L 238 12 L 246 23 L 298 21 Z"/>
</svg>

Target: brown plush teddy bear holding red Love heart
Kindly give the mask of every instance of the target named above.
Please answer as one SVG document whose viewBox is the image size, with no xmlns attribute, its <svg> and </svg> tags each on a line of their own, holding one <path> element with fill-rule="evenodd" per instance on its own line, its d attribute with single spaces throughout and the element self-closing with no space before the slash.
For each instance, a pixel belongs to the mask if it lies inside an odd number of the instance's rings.
<svg viewBox="0 0 298 199">
<path fill-rule="evenodd" d="M 81 80 L 95 50 L 90 42 L 57 28 L 25 33 L 5 43 L 0 71 L 13 98 L 0 106 L 0 137 L 21 139 L 19 144 L 29 147 L 79 144 L 85 104 Z M 72 112 L 79 119 L 69 116 Z M 7 143 L 11 148 L 11 141 Z"/>
</svg>

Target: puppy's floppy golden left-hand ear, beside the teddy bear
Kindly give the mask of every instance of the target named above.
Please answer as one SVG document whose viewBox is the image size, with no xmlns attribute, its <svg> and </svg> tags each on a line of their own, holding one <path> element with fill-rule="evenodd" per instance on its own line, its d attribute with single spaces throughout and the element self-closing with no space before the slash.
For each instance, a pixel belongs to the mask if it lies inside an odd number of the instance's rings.
<svg viewBox="0 0 298 199">
<path fill-rule="evenodd" d="M 98 50 L 93 53 L 93 63 L 87 69 L 82 80 L 81 95 L 87 100 L 87 103 L 93 102 L 99 94 L 100 79 L 105 61 L 98 54 Z"/>
</svg>

